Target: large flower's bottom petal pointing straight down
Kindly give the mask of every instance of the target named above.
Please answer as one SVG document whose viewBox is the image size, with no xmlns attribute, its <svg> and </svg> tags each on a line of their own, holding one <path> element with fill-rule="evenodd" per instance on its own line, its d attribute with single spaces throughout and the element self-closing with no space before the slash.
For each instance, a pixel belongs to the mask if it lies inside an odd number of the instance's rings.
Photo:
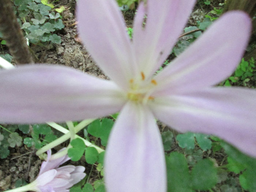
<svg viewBox="0 0 256 192">
<path fill-rule="evenodd" d="M 128 102 L 110 133 L 105 154 L 106 188 L 111 192 L 165 192 L 162 139 L 153 114 Z"/>
</svg>

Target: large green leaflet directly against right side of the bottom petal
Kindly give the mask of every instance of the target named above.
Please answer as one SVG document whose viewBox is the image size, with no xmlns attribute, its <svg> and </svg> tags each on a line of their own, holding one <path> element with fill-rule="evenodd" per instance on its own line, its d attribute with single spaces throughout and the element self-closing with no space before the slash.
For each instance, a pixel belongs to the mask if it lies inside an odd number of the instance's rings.
<svg viewBox="0 0 256 192">
<path fill-rule="evenodd" d="M 183 154 L 178 152 L 166 156 L 168 192 L 192 192 L 188 164 Z"/>
</svg>

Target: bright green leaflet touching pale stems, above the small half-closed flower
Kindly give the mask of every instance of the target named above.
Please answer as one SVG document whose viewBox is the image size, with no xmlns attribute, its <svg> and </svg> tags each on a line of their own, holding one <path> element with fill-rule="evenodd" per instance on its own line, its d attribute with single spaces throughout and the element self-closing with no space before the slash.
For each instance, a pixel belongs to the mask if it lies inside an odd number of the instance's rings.
<svg viewBox="0 0 256 192">
<path fill-rule="evenodd" d="M 82 139 L 76 138 L 70 142 L 72 148 L 68 149 L 68 157 L 71 158 L 72 161 L 78 161 L 84 153 L 85 144 Z"/>
</svg>

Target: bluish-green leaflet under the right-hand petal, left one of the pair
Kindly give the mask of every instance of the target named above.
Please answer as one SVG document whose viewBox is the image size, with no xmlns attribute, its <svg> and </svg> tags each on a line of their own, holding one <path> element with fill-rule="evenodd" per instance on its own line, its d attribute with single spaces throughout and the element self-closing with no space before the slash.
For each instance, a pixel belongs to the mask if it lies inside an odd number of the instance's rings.
<svg viewBox="0 0 256 192">
<path fill-rule="evenodd" d="M 187 132 L 184 134 L 178 134 L 176 139 L 178 141 L 178 145 L 182 148 L 193 149 L 195 148 L 195 138 L 194 133 Z"/>
</svg>

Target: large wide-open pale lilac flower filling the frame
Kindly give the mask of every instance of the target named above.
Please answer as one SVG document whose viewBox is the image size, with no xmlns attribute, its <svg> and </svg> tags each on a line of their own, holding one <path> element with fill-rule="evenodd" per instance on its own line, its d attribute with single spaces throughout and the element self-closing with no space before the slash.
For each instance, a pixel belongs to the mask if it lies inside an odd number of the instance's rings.
<svg viewBox="0 0 256 192">
<path fill-rule="evenodd" d="M 241 60 L 251 31 L 249 16 L 240 11 L 221 16 L 154 75 L 172 51 L 194 3 L 141 3 L 131 41 L 115 0 L 79 0 L 80 37 L 111 80 L 53 65 L 2 70 L 0 121 L 82 120 L 120 111 L 105 154 L 105 181 L 111 192 L 166 191 L 165 157 L 155 118 L 180 132 L 217 135 L 255 157 L 256 91 L 214 87 Z"/>
</svg>

